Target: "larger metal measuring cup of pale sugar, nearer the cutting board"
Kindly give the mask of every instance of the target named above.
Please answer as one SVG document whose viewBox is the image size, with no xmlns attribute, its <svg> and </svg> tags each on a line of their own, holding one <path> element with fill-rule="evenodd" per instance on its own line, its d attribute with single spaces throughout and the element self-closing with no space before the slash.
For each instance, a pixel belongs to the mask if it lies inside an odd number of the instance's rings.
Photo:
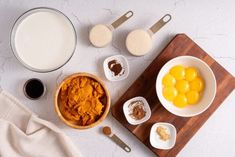
<svg viewBox="0 0 235 157">
<path fill-rule="evenodd" d="M 143 56 L 152 48 L 152 36 L 160 30 L 165 24 L 171 20 L 171 15 L 164 15 L 147 31 L 144 29 L 136 29 L 131 31 L 126 38 L 127 50 L 135 56 Z"/>
</svg>

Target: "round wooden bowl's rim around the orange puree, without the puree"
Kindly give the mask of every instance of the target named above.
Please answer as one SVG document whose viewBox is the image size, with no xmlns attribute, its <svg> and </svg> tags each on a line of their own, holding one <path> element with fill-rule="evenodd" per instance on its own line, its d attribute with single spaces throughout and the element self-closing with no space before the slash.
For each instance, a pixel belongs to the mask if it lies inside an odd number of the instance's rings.
<svg viewBox="0 0 235 157">
<path fill-rule="evenodd" d="M 72 79 L 72 78 L 81 77 L 81 76 L 90 77 L 90 78 L 96 80 L 102 86 L 102 88 L 104 89 L 105 95 L 107 97 L 107 102 L 106 102 L 106 105 L 105 105 L 105 109 L 104 109 L 104 112 L 102 113 L 102 115 L 100 116 L 100 118 L 98 120 L 96 120 L 94 123 L 91 123 L 91 124 L 85 125 L 85 126 L 81 126 L 81 125 L 71 123 L 69 120 L 64 118 L 64 116 L 62 115 L 62 113 L 59 109 L 59 103 L 58 103 L 58 96 L 59 96 L 59 93 L 60 93 L 60 89 L 64 85 L 64 83 L 67 82 L 68 80 Z M 56 111 L 57 115 L 59 116 L 60 120 L 62 120 L 66 125 L 68 125 L 72 128 L 75 128 L 75 129 L 89 129 L 89 128 L 92 128 L 92 127 L 100 124 L 106 118 L 106 116 L 108 115 L 109 110 L 110 110 L 110 105 L 111 105 L 110 93 L 109 93 L 107 87 L 105 86 L 105 84 L 103 83 L 103 81 L 98 76 L 95 76 L 93 74 L 86 73 L 86 72 L 78 72 L 78 73 L 74 73 L 74 74 L 71 74 L 71 75 L 68 75 L 67 77 L 65 77 L 63 79 L 63 81 L 59 84 L 59 86 L 57 87 L 55 95 L 54 95 L 54 107 L 55 107 L 55 111 Z"/>
</svg>

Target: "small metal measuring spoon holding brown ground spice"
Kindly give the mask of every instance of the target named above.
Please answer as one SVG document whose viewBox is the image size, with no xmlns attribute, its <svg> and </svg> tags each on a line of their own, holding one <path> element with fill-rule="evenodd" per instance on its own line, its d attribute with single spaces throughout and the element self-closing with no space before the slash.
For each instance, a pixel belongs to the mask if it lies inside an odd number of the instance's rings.
<svg viewBox="0 0 235 157">
<path fill-rule="evenodd" d="M 103 133 L 108 136 L 113 142 L 119 145 L 126 152 L 131 152 L 131 148 L 127 146 L 119 137 L 112 133 L 112 130 L 109 126 L 103 127 Z"/>
</svg>

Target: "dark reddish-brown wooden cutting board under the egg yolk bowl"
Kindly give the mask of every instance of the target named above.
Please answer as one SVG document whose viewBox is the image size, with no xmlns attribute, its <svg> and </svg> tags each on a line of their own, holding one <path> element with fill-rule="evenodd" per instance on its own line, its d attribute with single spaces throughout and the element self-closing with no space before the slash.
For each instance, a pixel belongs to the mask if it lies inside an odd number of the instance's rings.
<svg viewBox="0 0 235 157">
<path fill-rule="evenodd" d="M 170 59 L 190 55 L 205 61 L 213 70 L 217 80 L 217 93 L 211 106 L 202 114 L 191 118 L 182 118 L 168 112 L 159 102 L 155 82 L 161 67 Z M 114 104 L 112 108 L 113 116 L 131 133 L 133 133 L 142 143 L 151 149 L 156 155 L 176 156 L 186 145 L 193 135 L 200 129 L 206 120 L 221 105 L 224 99 L 235 88 L 235 78 L 226 71 L 219 63 L 203 51 L 195 42 L 185 34 L 176 35 L 173 40 L 163 49 L 163 51 L 153 60 L 148 68 L 129 87 L 123 96 Z M 130 125 L 123 114 L 123 104 L 130 98 L 143 96 L 147 99 L 151 110 L 151 118 L 140 125 Z M 168 122 L 177 129 L 177 140 L 175 146 L 170 150 L 160 150 L 152 147 L 149 142 L 151 126 L 156 122 Z"/>
</svg>

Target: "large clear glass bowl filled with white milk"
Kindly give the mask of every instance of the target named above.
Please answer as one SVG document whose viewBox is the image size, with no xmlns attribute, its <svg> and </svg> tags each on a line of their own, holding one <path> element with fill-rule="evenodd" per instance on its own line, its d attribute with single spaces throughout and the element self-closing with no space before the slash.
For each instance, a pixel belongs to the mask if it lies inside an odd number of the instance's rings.
<svg viewBox="0 0 235 157">
<path fill-rule="evenodd" d="M 29 70 L 50 72 L 65 65 L 76 49 L 77 36 L 69 18 L 53 8 L 22 14 L 11 32 L 11 48 Z"/>
</svg>

